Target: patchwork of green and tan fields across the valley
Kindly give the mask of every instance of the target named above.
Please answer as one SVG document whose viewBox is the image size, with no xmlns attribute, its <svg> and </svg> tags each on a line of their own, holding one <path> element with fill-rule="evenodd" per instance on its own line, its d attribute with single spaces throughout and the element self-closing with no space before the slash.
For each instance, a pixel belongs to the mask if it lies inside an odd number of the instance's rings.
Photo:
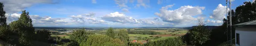
<svg viewBox="0 0 256 46">
<path fill-rule="evenodd" d="M 51 36 L 59 36 L 61 38 L 69 39 L 70 34 L 73 34 L 72 31 L 77 30 L 78 28 L 57 28 L 57 29 L 48 29 L 51 32 Z M 122 28 L 114 28 L 113 31 L 117 33 L 119 29 Z M 128 31 L 129 41 L 137 40 L 142 43 L 145 43 L 147 39 L 150 41 L 158 41 L 164 40 L 167 38 L 175 38 L 178 36 L 185 35 L 188 30 L 187 29 L 177 29 L 177 28 L 125 28 Z M 61 30 L 61 31 L 60 31 Z M 67 32 L 69 31 L 69 32 Z M 107 28 L 105 29 L 89 29 L 86 30 L 91 33 L 95 33 L 92 35 L 105 35 L 107 33 Z"/>
</svg>

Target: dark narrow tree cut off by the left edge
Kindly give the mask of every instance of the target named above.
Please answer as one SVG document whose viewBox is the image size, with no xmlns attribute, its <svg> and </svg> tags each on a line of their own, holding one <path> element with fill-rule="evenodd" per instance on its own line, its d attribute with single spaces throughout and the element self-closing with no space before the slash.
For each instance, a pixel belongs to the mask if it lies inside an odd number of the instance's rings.
<svg viewBox="0 0 256 46">
<path fill-rule="evenodd" d="M 3 3 L 0 3 L 0 26 L 6 26 L 6 17 L 5 17 L 5 11 L 3 10 Z"/>
</svg>

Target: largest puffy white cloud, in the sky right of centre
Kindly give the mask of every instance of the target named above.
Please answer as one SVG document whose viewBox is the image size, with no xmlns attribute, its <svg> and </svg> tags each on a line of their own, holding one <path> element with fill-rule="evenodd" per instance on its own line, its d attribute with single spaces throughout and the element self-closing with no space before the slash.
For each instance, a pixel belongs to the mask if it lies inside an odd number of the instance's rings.
<svg viewBox="0 0 256 46">
<path fill-rule="evenodd" d="M 169 8 L 169 6 L 166 6 Z M 204 10 L 205 7 L 199 7 L 199 6 L 181 6 L 180 8 L 176 10 L 167 10 L 166 7 L 162 7 L 160 9 L 160 13 L 155 13 L 155 15 L 158 15 L 163 21 L 169 22 L 169 23 L 182 23 L 182 22 L 189 22 L 192 20 L 197 20 L 197 18 L 194 18 L 192 16 L 200 15 L 202 14 L 201 10 Z"/>
</svg>

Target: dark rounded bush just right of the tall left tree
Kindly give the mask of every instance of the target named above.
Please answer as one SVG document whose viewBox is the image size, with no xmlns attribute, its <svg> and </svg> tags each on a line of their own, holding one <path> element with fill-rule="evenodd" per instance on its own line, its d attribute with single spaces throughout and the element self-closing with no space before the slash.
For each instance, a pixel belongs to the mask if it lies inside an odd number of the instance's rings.
<svg viewBox="0 0 256 46">
<path fill-rule="evenodd" d="M 35 40 L 37 41 L 44 41 L 46 42 L 48 38 L 51 37 L 51 34 L 49 32 L 49 30 L 38 30 L 36 31 L 36 34 L 35 34 Z"/>
</svg>

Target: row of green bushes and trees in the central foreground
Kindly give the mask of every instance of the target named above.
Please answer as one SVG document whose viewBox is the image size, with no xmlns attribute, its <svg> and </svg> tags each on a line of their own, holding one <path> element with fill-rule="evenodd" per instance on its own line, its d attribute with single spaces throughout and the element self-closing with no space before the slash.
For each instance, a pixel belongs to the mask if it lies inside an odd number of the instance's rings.
<svg viewBox="0 0 256 46">
<path fill-rule="evenodd" d="M 127 46 L 128 33 L 120 29 L 118 33 L 109 28 L 106 35 L 92 35 L 83 29 L 73 31 L 70 35 L 70 42 L 62 43 L 63 46 Z"/>
</svg>

